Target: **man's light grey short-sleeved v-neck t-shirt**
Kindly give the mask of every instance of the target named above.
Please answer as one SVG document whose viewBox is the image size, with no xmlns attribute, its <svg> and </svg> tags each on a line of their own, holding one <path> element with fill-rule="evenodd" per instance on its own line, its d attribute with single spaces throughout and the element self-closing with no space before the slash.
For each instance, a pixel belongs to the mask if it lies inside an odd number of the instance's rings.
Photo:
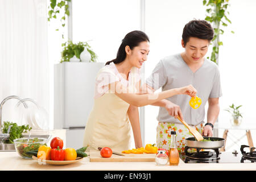
<svg viewBox="0 0 256 182">
<path fill-rule="evenodd" d="M 189 84 L 196 88 L 197 96 L 202 100 L 200 107 L 197 109 L 193 109 L 189 105 L 191 97 L 188 95 L 176 95 L 167 98 L 167 100 L 180 106 L 184 121 L 189 125 L 204 123 L 205 104 L 208 98 L 222 96 L 220 72 L 217 64 L 205 58 L 203 65 L 193 73 L 180 53 L 160 60 L 152 74 L 147 78 L 146 84 L 155 90 L 162 87 L 163 91 Z M 159 122 L 180 123 L 178 119 L 171 117 L 164 107 L 159 107 L 159 114 L 156 119 Z"/>
</svg>

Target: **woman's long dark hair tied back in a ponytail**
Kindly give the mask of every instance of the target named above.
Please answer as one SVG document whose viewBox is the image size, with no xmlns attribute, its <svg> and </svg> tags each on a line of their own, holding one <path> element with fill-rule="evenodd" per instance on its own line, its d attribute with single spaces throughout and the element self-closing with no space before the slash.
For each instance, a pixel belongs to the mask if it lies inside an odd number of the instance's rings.
<svg viewBox="0 0 256 182">
<path fill-rule="evenodd" d="M 123 60 L 125 60 L 126 57 L 126 52 L 125 52 L 125 47 L 129 46 L 130 49 L 132 50 L 134 47 L 138 46 L 139 43 L 141 42 L 150 42 L 148 39 L 148 36 L 139 30 L 132 31 L 128 33 L 125 38 L 123 38 L 122 43 L 117 51 L 117 57 L 113 59 L 112 61 L 106 62 L 105 65 L 110 64 L 110 63 L 121 63 Z"/>
</svg>

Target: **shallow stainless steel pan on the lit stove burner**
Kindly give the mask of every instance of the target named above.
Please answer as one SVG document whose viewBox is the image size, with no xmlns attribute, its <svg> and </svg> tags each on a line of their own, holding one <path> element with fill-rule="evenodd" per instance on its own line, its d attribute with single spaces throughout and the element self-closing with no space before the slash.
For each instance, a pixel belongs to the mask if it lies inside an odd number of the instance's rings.
<svg viewBox="0 0 256 182">
<path fill-rule="evenodd" d="M 205 148 L 214 149 L 221 148 L 225 144 L 224 138 L 217 137 L 204 137 L 204 139 L 210 139 L 210 141 L 197 141 L 195 137 L 186 138 L 186 145 L 191 148 Z"/>
</svg>

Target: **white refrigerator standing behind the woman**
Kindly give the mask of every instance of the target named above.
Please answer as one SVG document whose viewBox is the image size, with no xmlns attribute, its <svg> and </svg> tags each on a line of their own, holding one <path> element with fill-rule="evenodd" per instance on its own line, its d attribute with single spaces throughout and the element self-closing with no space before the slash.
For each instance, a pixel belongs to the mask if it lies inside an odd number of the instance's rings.
<svg viewBox="0 0 256 182">
<path fill-rule="evenodd" d="M 93 107 L 94 85 L 105 63 L 63 62 L 54 67 L 54 129 L 66 129 L 66 147 L 80 148 Z"/>
</svg>

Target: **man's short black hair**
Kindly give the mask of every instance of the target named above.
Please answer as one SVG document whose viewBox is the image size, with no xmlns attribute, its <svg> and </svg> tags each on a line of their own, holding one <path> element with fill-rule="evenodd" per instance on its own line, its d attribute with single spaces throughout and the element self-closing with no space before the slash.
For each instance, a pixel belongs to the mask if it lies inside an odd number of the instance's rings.
<svg viewBox="0 0 256 182">
<path fill-rule="evenodd" d="M 207 39 L 209 42 L 213 39 L 214 31 L 212 26 L 205 20 L 191 20 L 183 28 L 182 39 L 186 46 L 190 37 Z"/>
</svg>

